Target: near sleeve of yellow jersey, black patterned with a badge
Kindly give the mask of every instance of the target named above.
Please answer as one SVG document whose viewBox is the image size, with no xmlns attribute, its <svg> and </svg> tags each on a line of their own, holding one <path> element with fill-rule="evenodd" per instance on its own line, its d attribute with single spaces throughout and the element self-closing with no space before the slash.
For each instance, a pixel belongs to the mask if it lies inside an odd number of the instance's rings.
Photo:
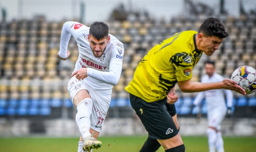
<svg viewBox="0 0 256 152">
<path fill-rule="evenodd" d="M 176 53 L 170 60 L 175 68 L 177 81 L 186 81 L 192 78 L 193 62 L 190 54 L 187 52 Z"/>
</svg>

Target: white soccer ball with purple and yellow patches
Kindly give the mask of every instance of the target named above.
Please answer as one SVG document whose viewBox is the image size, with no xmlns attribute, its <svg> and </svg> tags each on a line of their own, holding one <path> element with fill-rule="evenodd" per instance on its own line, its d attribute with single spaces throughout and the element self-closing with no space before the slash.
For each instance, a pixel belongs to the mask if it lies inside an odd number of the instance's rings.
<svg viewBox="0 0 256 152">
<path fill-rule="evenodd" d="M 251 66 L 245 65 L 235 69 L 231 80 L 244 88 L 247 95 L 256 91 L 256 70 Z"/>
</svg>

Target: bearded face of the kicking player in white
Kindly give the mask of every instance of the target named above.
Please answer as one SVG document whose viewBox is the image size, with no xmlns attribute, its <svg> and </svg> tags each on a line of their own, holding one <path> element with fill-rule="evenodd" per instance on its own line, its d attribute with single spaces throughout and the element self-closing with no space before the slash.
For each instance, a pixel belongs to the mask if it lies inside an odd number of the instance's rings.
<svg viewBox="0 0 256 152">
<path fill-rule="evenodd" d="M 93 55 L 95 57 L 101 57 L 101 55 L 103 54 L 103 52 L 105 51 L 105 49 L 107 47 L 107 44 L 110 41 L 110 36 L 108 36 L 106 39 L 102 39 L 102 40 L 98 41 L 93 36 L 90 37 L 88 35 L 88 40 L 89 40 Z"/>
</svg>

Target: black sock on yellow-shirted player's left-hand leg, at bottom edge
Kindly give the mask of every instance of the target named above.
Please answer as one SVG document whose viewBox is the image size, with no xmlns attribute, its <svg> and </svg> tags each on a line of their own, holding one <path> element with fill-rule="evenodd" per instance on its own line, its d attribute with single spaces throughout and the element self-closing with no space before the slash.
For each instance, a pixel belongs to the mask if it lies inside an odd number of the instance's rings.
<svg viewBox="0 0 256 152">
<path fill-rule="evenodd" d="M 140 152 L 155 152 L 161 145 L 156 139 L 148 137 Z"/>
</svg>

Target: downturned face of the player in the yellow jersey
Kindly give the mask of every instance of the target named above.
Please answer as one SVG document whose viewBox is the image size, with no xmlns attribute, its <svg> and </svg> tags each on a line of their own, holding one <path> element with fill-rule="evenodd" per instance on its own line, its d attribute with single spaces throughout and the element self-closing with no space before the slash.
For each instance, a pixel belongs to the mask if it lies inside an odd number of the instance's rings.
<svg viewBox="0 0 256 152">
<path fill-rule="evenodd" d="M 219 38 L 216 36 L 205 37 L 202 33 L 199 35 L 199 47 L 206 55 L 212 55 L 216 50 L 219 49 L 220 44 L 223 42 L 224 38 Z"/>
</svg>

